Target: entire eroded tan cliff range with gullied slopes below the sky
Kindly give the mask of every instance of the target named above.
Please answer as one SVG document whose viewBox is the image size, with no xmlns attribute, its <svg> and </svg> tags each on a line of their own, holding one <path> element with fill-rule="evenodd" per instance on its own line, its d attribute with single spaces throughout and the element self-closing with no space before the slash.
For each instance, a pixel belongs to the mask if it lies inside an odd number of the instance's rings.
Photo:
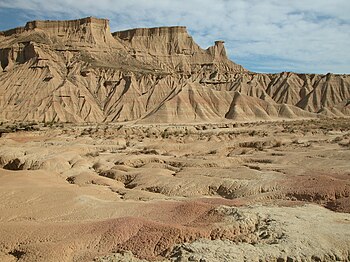
<svg viewBox="0 0 350 262">
<path fill-rule="evenodd" d="M 185 27 L 106 19 L 0 32 L 0 120 L 202 122 L 349 116 L 349 75 L 248 72 Z"/>
</svg>

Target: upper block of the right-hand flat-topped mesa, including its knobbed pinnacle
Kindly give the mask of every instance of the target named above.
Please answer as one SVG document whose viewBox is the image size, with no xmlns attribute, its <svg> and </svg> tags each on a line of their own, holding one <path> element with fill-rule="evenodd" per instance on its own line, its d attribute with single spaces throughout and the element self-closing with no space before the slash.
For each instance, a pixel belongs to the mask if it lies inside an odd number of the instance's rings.
<svg viewBox="0 0 350 262">
<path fill-rule="evenodd" d="M 216 41 L 204 50 L 194 42 L 185 26 L 136 28 L 115 32 L 113 36 L 122 40 L 135 58 L 152 63 L 156 57 L 162 68 L 191 72 L 203 64 L 225 63 L 225 68 L 231 71 L 244 71 L 227 58 L 224 41 Z"/>
</svg>

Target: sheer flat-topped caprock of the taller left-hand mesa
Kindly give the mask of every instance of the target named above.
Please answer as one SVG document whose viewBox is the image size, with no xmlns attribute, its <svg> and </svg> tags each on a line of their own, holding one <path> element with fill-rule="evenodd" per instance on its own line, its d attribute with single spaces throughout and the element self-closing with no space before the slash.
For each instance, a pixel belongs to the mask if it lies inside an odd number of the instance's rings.
<svg viewBox="0 0 350 262">
<path fill-rule="evenodd" d="M 76 20 L 35 20 L 27 22 L 24 27 L 18 27 L 0 32 L 3 36 L 11 36 L 30 31 L 43 31 L 50 37 L 69 42 L 86 42 L 91 44 L 106 44 L 113 39 L 108 19 L 86 17 Z"/>
</svg>

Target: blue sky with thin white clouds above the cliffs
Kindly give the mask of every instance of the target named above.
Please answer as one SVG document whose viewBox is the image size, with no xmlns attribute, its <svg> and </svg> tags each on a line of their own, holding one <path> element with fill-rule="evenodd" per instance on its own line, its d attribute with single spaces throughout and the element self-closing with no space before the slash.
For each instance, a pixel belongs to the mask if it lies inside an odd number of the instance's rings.
<svg viewBox="0 0 350 262">
<path fill-rule="evenodd" d="M 0 30 L 87 16 L 112 32 L 186 26 L 202 48 L 224 40 L 254 72 L 350 73 L 349 0 L 0 0 Z"/>
</svg>

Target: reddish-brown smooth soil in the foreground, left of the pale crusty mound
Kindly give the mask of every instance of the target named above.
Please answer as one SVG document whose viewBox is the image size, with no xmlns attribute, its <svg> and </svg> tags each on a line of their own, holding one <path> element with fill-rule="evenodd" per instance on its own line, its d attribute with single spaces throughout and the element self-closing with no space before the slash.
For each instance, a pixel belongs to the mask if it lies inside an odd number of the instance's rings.
<svg viewBox="0 0 350 262">
<path fill-rule="evenodd" d="M 198 238 L 210 239 L 212 223 L 222 219 L 210 204 L 158 204 L 163 215 L 155 214 L 156 221 L 122 217 L 82 223 L 0 224 L 0 234 L 6 239 L 0 246 L 9 254 L 21 252 L 23 258 L 32 261 L 43 254 L 48 259 L 57 256 L 61 261 L 86 261 L 124 250 L 152 260 L 167 255 L 176 244 Z M 172 219 L 165 222 L 168 217 Z"/>
</svg>

